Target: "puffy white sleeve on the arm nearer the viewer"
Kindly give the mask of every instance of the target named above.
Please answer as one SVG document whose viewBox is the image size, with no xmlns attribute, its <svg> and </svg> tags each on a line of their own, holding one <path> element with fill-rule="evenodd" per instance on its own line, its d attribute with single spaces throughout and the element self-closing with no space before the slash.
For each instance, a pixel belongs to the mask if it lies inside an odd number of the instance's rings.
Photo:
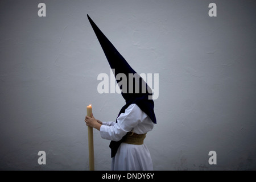
<svg viewBox="0 0 256 182">
<path fill-rule="evenodd" d="M 136 104 L 131 104 L 125 113 L 119 115 L 117 123 L 114 123 L 113 126 L 101 125 L 101 138 L 119 141 L 146 117 L 147 115 Z"/>
</svg>

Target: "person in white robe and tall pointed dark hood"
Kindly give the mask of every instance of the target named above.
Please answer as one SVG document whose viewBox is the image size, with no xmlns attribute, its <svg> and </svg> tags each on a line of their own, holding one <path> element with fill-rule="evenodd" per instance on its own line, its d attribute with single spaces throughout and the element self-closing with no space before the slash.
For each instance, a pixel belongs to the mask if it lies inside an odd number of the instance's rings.
<svg viewBox="0 0 256 182">
<path fill-rule="evenodd" d="M 150 152 L 143 142 L 156 124 L 152 89 L 87 16 L 126 104 L 115 122 L 101 122 L 92 114 L 86 116 L 86 125 L 99 130 L 102 138 L 111 140 L 113 170 L 153 170 Z"/>
</svg>

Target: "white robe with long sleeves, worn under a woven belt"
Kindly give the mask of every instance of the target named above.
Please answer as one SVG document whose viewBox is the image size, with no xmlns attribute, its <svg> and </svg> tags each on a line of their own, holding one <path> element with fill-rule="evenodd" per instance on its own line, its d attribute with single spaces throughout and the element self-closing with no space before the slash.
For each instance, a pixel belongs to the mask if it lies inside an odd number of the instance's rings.
<svg viewBox="0 0 256 182">
<path fill-rule="evenodd" d="M 116 122 L 102 122 L 100 129 L 101 138 L 118 141 L 127 132 L 133 130 L 134 133 L 144 134 L 151 131 L 154 123 L 136 104 L 131 104 L 117 118 Z M 147 139 L 147 137 L 146 137 Z M 112 158 L 112 170 L 121 171 L 142 171 L 153 170 L 150 152 L 145 144 L 121 143 L 117 154 Z"/>
</svg>

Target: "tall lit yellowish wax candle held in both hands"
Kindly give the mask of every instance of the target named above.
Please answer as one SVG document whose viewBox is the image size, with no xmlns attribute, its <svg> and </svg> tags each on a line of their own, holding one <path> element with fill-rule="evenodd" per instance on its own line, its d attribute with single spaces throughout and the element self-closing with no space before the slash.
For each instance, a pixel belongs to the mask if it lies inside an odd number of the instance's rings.
<svg viewBox="0 0 256 182">
<path fill-rule="evenodd" d="M 92 117 L 92 105 L 86 107 L 87 115 Z M 89 170 L 94 171 L 93 128 L 88 126 Z"/>
</svg>

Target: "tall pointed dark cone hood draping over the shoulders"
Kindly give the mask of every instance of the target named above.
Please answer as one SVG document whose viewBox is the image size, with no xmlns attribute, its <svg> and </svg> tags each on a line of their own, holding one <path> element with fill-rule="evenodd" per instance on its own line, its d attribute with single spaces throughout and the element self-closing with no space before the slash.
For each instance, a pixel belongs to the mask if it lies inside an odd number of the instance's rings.
<svg viewBox="0 0 256 182">
<path fill-rule="evenodd" d="M 131 104 L 137 104 L 139 108 L 150 117 L 151 121 L 156 123 L 155 113 L 154 113 L 154 101 L 148 99 L 149 96 L 152 96 L 151 88 L 146 84 L 141 76 L 139 76 L 133 68 L 127 63 L 123 56 L 117 51 L 113 44 L 106 38 L 102 33 L 100 28 L 96 26 L 93 20 L 89 15 L 88 19 L 92 28 L 98 38 L 98 41 L 101 44 L 101 47 L 105 53 L 106 58 L 108 59 L 111 69 L 114 69 L 115 78 L 119 73 L 126 76 L 125 80 L 117 80 L 119 88 L 121 89 L 121 94 L 126 101 L 126 105 L 122 107 L 119 111 L 118 117 L 121 113 L 125 113 L 125 109 Z M 133 74 L 133 80 L 129 80 L 129 75 Z M 126 88 L 125 88 L 126 86 Z M 115 155 L 119 144 L 122 143 L 122 140 L 119 142 L 112 141 L 110 143 L 110 148 L 112 148 L 112 157 Z"/>
</svg>

